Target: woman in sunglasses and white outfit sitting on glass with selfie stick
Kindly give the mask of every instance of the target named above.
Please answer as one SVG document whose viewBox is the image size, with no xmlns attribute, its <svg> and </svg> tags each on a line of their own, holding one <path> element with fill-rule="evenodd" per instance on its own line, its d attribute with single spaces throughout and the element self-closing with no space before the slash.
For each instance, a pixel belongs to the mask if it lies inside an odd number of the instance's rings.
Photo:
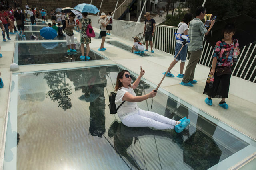
<svg viewBox="0 0 256 170">
<path fill-rule="evenodd" d="M 178 133 L 183 131 L 190 123 L 190 120 L 186 119 L 186 117 L 182 118 L 180 121 L 175 121 L 158 113 L 139 109 L 136 102 L 153 98 L 157 93 L 152 90 L 152 92 L 148 94 L 136 96 L 134 89 L 137 88 L 144 74 L 145 71 L 140 67 L 140 75 L 133 84 L 131 83 L 132 76 L 128 70 L 122 70 L 117 75 L 115 87 L 117 91 L 115 100 L 116 107 L 125 101 L 117 110 L 118 117 L 121 119 L 122 123 L 128 127 L 154 127 L 156 129 L 175 128 L 175 131 Z"/>
</svg>

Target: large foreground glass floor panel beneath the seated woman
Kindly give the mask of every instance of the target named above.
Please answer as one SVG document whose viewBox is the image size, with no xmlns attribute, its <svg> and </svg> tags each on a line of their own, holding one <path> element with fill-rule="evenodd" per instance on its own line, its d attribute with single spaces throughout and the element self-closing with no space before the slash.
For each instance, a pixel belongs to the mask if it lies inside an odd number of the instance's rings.
<svg viewBox="0 0 256 170">
<path fill-rule="evenodd" d="M 13 74 L 4 170 L 224 170 L 256 151 L 246 135 L 162 89 L 152 109 L 151 99 L 137 104 L 174 120 L 188 117 L 191 123 L 182 133 L 124 126 L 108 109 L 108 95 L 122 69 Z M 138 75 L 131 75 L 134 82 Z M 142 78 L 134 92 L 147 94 L 154 86 Z"/>
</svg>

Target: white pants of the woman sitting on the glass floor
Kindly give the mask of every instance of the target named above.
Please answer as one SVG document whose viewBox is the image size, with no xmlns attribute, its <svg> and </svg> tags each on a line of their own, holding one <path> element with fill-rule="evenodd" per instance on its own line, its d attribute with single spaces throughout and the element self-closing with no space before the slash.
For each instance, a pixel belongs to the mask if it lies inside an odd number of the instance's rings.
<svg viewBox="0 0 256 170">
<path fill-rule="evenodd" d="M 121 120 L 128 127 L 154 127 L 156 129 L 174 129 L 175 120 L 151 111 L 138 110 L 138 113 Z"/>
</svg>

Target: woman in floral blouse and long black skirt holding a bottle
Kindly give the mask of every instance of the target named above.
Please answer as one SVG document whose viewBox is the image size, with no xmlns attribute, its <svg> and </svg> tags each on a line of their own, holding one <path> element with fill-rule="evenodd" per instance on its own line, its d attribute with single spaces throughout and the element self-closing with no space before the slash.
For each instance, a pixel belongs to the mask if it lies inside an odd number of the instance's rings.
<svg viewBox="0 0 256 170">
<path fill-rule="evenodd" d="M 224 38 L 218 41 L 214 47 L 212 68 L 210 70 L 210 74 L 214 76 L 214 82 L 212 88 L 209 87 L 209 83 L 207 82 L 204 88 L 204 94 L 208 95 L 204 101 L 210 106 L 212 106 L 212 98 L 221 98 L 219 106 L 228 109 L 225 99 L 228 98 L 232 73 L 217 76 L 216 69 L 231 67 L 233 65 L 234 49 L 236 49 L 237 55 L 240 54 L 238 40 L 232 39 L 235 31 L 236 29 L 233 24 L 227 24 L 223 30 Z"/>
</svg>

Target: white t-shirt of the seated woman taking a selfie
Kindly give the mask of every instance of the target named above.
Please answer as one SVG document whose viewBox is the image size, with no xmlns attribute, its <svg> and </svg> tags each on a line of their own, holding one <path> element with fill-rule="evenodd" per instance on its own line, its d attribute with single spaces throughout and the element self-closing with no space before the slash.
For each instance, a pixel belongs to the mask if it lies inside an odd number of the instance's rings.
<svg viewBox="0 0 256 170">
<path fill-rule="evenodd" d="M 132 86 L 132 84 L 131 84 Z M 117 91 L 116 94 L 116 108 L 123 102 L 122 98 L 124 97 L 124 94 L 128 92 L 132 94 L 133 96 L 136 96 L 136 93 L 132 89 L 132 87 L 129 86 L 129 88 L 122 87 L 120 90 Z M 128 102 L 125 101 L 124 104 L 117 110 L 118 117 L 122 120 L 130 115 L 138 113 L 139 107 L 136 102 Z"/>
</svg>

